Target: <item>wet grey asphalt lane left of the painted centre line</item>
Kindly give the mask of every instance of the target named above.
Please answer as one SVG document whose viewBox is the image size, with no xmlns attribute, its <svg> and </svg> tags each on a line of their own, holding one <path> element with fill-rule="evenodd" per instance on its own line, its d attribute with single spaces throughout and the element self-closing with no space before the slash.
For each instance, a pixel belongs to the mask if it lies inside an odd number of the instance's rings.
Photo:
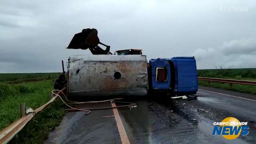
<svg viewBox="0 0 256 144">
<path fill-rule="evenodd" d="M 110 102 L 86 104 L 78 108 L 109 107 Z M 68 112 L 60 126 L 50 133 L 46 144 L 120 144 L 121 139 L 112 109 Z"/>
</svg>

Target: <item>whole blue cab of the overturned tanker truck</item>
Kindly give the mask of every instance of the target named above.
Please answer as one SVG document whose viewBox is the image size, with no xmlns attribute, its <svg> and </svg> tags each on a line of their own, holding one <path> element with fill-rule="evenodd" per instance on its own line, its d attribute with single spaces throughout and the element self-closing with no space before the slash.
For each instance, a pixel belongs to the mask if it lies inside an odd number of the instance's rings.
<svg viewBox="0 0 256 144">
<path fill-rule="evenodd" d="M 168 92 L 171 96 L 196 94 L 198 81 L 195 58 L 151 59 L 148 65 L 148 91 Z"/>
</svg>

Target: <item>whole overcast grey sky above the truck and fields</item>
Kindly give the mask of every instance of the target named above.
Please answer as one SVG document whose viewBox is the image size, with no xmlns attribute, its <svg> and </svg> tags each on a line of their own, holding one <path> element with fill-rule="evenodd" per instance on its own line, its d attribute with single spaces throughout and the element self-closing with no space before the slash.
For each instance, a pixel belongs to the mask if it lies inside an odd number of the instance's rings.
<svg viewBox="0 0 256 144">
<path fill-rule="evenodd" d="M 1 0 L 0 73 L 60 72 L 75 33 L 96 28 L 110 51 L 195 56 L 198 69 L 256 68 L 255 0 Z"/>
</svg>

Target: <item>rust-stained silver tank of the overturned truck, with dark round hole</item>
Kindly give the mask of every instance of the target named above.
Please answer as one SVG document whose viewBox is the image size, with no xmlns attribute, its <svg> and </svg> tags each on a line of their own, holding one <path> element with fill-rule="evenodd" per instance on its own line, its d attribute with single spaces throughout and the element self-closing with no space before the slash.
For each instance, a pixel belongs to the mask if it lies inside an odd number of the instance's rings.
<svg viewBox="0 0 256 144">
<path fill-rule="evenodd" d="M 68 62 L 69 96 L 146 95 L 145 55 L 76 55 Z"/>
</svg>

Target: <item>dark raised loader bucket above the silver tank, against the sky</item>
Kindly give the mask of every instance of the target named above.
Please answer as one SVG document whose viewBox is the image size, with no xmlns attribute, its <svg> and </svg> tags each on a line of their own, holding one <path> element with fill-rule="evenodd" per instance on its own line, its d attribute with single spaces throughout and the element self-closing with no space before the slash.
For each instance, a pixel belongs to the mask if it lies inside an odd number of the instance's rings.
<svg viewBox="0 0 256 144">
<path fill-rule="evenodd" d="M 88 48 L 95 48 L 100 43 L 97 34 L 98 31 L 94 28 L 83 29 L 82 32 L 74 35 L 67 48 L 82 50 L 86 50 Z"/>
</svg>

